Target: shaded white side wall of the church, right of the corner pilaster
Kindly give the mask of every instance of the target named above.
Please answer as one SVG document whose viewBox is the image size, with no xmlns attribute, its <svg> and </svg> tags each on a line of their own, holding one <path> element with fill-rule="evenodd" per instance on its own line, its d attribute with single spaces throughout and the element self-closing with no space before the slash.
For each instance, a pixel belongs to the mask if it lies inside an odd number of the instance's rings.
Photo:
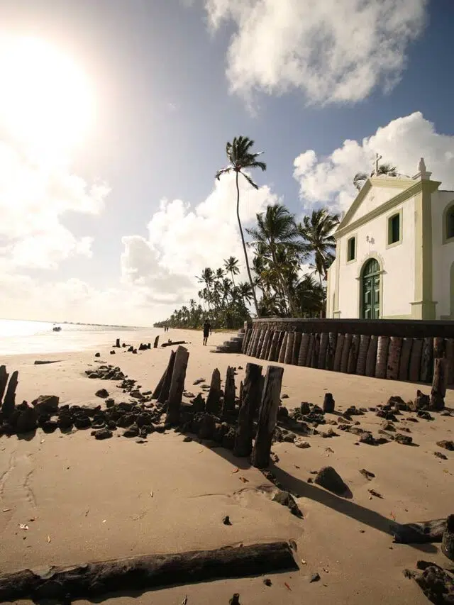
<svg viewBox="0 0 454 605">
<path fill-rule="evenodd" d="M 454 200 L 454 192 L 435 192 L 432 195 L 432 288 L 436 318 L 450 315 L 450 267 L 454 262 L 454 242 L 443 245 L 443 211 Z"/>
</svg>

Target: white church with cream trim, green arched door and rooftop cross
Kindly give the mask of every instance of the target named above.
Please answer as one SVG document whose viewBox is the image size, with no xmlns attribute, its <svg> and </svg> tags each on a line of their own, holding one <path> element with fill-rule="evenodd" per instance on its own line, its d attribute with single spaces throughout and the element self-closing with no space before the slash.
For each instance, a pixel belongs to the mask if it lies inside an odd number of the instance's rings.
<svg viewBox="0 0 454 605">
<path fill-rule="evenodd" d="M 454 192 L 414 177 L 367 179 L 336 233 L 326 316 L 454 321 Z"/>
</svg>

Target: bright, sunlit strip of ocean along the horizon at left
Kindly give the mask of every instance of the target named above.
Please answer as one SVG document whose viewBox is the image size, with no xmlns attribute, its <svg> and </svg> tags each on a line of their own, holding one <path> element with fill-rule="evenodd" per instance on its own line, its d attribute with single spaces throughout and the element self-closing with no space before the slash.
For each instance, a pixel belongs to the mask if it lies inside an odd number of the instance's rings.
<svg viewBox="0 0 454 605">
<path fill-rule="evenodd" d="M 54 332 L 54 326 L 60 326 L 61 331 Z M 144 333 L 151 338 L 152 332 L 160 331 L 155 328 L 0 319 L 0 355 L 65 353 L 105 348 L 114 345 L 117 336 L 124 342 L 136 344 L 136 340 L 140 340 Z"/>
</svg>

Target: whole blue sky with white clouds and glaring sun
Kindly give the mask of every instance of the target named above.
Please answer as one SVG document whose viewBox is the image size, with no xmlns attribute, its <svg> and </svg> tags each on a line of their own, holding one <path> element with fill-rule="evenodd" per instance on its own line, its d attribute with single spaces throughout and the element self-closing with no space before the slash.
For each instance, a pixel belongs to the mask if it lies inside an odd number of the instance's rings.
<svg viewBox="0 0 454 605">
<path fill-rule="evenodd" d="M 0 317 L 151 326 L 267 204 L 342 212 L 375 153 L 454 189 L 454 0 L 2 0 Z"/>
</svg>

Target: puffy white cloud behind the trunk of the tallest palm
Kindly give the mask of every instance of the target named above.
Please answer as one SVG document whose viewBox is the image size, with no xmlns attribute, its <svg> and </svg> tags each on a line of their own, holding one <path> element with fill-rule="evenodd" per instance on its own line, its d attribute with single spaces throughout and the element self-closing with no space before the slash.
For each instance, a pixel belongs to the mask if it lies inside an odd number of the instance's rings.
<svg viewBox="0 0 454 605">
<path fill-rule="evenodd" d="M 255 190 L 240 179 L 240 217 L 243 226 L 255 219 L 277 196 L 269 187 Z M 216 269 L 233 255 L 243 267 L 243 248 L 236 218 L 234 175 L 221 177 L 213 192 L 194 209 L 182 200 L 162 200 L 148 223 L 148 238 L 123 238 L 121 259 L 123 282 L 150 290 L 150 299 L 184 302 L 200 289 L 195 276 L 204 267 Z"/>
</svg>

